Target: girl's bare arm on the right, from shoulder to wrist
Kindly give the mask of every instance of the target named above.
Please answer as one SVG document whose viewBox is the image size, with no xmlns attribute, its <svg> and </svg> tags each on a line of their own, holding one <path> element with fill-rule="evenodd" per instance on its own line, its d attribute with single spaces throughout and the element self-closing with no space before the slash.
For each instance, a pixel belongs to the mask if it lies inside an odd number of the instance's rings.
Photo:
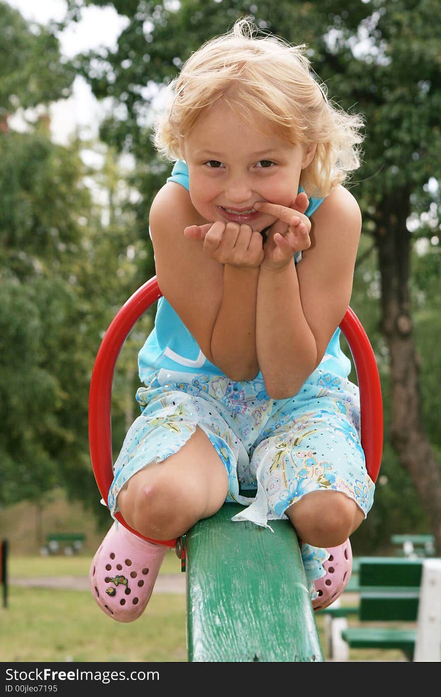
<svg viewBox="0 0 441 697">
<path fill-rule="evenodd" d="M 352 292 L 361 230 L 357 202 L 338 187 L 311 221 L 311 247 L 302 261 L 279 267 L 263 261 L 259 274 L 256 350 L 274 399 L 297 394 L 320 363 Z"/>
</svg>

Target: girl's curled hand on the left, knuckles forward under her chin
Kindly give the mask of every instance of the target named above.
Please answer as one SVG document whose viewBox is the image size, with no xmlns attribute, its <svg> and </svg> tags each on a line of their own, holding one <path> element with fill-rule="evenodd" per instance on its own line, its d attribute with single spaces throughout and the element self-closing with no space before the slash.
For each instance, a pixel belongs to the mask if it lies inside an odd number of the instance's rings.
<svg viewBox="0 0 441 697">
<path fill-rule="evenodd" d="M 261 265 L 263 239 L 249 225 L 217 221 L 205 225 L 190 225 L 184 230 L 190 240 L 203 240 L 203 251 L 219 263 L 237 268 L 257 268 Z"/>
</svg>

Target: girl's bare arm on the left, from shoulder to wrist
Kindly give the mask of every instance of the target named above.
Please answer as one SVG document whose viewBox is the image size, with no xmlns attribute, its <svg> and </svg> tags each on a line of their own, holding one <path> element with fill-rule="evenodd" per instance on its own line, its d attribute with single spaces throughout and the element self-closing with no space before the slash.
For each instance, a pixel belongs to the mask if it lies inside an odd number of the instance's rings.
<svg viewBox="0 0 441 697">
<path fill-rule="evenodd" d="M 214 249 L 219 227 L 198 239 L 194 228 L 204 224 L 183 187 L 176 183 L 162 187 L 150 208 L 158 283 L 206 358 L 231 380 L 250 380 L 258 373 L 258 264 L 242 268 L 213 258 L 207 250 L 210 243 Z M 186 236 L 184 229 L 191 228 L 194 234 Z M 221 231 L 219 240 L 223 237 Z M 220 252 L 228 246 L 226 241 Z M 262 246 L 261 238 L 259 242 Z M 258 263 L 262 250 L 260 254 Z"/>
</svg>

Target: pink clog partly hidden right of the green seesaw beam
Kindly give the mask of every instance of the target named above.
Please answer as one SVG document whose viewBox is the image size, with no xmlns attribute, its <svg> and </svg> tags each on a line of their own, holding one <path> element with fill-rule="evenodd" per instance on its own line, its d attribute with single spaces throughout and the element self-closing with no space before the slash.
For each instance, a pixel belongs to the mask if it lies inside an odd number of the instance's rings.
<svg viewBox="0 0 441 697">
<path fill-rule="evenodd" d="M 330 558 L 323 562 L 325 576 L 314 581 L 318 593 L 312 601 L 314 610 L 322 610 L 331 605 L 348 585 L 353 568 L 353 553 L 349 539 L 338 547 L 328 547 Z"/>
</svg>

